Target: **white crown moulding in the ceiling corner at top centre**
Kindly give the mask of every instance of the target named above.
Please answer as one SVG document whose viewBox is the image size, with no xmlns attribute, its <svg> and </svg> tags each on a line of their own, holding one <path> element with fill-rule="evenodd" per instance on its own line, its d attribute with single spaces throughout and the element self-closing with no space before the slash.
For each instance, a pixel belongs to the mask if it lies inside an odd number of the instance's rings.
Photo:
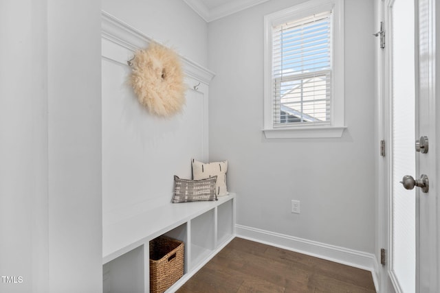
<svg viewBox="0 0 440 293">
<path fill-rule="evenodd" d="M 205 21 L 215 21 L 269 0 L 184 0 Z"/>
</svg>

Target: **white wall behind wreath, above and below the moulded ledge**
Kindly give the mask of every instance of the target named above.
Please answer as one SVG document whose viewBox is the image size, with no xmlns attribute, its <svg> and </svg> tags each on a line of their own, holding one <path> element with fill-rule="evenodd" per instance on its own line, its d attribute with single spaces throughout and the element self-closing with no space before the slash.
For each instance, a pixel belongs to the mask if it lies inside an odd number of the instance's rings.
<svg viewBox="0 0 440 293">
<path fill-rule="evenodd" d="M 206 64 L 207 24 L 184 1 L 172 2 L 104 0 L 102 10 L 154 40 L 166 40 L 164 45 L 186 55 L 190 62 Z M 121 38 L 133 40 L 125 35 Z M 145 48 L 148 42 L 131 45 Z M 102 210 L 106 225 L 170 202 L 173 175 L 191 178 L 190 159 L 208 159 L 208 86 L 205 81 L 194 91 L 192 86 L 199 80 L 187 77 L 186 105 L 181 113 L 156 117 L 137 102 L 127 83 L 131 69 L 126 60 L 133 51 L 103 38 L 102 56 Z"/>
</svg>

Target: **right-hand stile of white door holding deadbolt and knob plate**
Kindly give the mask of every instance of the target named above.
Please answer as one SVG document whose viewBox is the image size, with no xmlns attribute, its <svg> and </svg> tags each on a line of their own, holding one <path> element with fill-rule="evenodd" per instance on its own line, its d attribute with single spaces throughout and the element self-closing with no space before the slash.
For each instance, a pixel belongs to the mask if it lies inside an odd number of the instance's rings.
<svg viewBox="0 0 440 293">
<path fill-rule="evenodd" d="M 417 176 L 426 174 L 430 178 L 428 193 L 417 190 L 417 290 L 423 293 L 440 292 L 440 202 L 439 180 L 440 167 L 440 7 L 438 0 L 419 0 L 417 3 L 418 36 L 418 128 L 417 137 L 429 139 L 429 150 L 426 154 L 417 153 Z M 436 5 L 437 4 L 437 5 Z M 437 30 L 436 30 L 437 27 Z M 437 43 L 438 44 L 438 43 Z M 437 47 L 437 49 L 436 49 Z M 437 63 L 437 64 L 436 64 Z M 437 67 L 437 68 L 436 68 Z"/>
</svg>

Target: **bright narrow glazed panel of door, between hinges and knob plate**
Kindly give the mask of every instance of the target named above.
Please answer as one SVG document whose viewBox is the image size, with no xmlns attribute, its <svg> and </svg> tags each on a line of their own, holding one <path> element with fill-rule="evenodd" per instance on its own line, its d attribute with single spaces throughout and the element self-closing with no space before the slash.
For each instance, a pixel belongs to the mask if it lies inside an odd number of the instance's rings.
<svg viewBox="0 0 440 293">
<path fill-rule="evenodd" d="M 396 292 L 415 292 L 416 189 L 399 181 L 415 176 L 415 7 L 412 0 L 388 1 L 391 71 L 391 174 L 389 275 Z"/>
</svg>

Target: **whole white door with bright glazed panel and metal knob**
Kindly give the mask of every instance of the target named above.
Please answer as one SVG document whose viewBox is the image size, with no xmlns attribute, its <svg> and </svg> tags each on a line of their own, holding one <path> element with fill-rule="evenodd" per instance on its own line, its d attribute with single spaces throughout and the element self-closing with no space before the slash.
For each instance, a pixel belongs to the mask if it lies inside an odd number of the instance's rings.
<svg viewBox="0 0 440 293">
<path fill-rule="evenodd" d="M 435 103 L 435 0 L 386 0 L 384 22 L 384 134 L 389 141 L 384 244 L 388 263 L 383 292 L 439 292 L 439 203 L 437 202 Z M 440 113 L 440 112 L 439 112 Z M 415 141 L 428 137 L 429 148 L 416 152 Z M 430 178 L 423 192 L 421 174 Z M 406 177 L 406 188 L 399 182 Z M 426 184 L 428 185 L 428 184 Z M 409 188 L 409 189 L 408 189 Z M 425 188 L 426 189 L 426 188 Z M 426 190 L 425 190 L 426 191 Z"/>
</svg>

